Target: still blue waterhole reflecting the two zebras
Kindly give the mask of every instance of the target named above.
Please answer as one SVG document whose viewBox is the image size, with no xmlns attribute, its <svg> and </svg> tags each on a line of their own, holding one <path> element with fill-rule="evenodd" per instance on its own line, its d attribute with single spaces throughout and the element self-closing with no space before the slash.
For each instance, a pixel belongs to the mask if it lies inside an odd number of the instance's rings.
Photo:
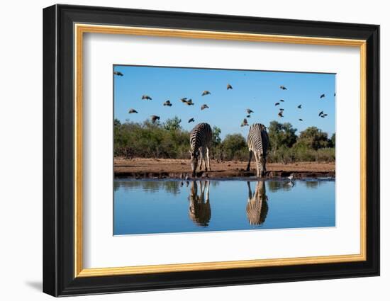
<svg viewBox="0 0 390 301">
<path fill-rule="evenodd" d="M 114 181 L 113 234 L 335 227 L 335 181 Z"/>
</svg>

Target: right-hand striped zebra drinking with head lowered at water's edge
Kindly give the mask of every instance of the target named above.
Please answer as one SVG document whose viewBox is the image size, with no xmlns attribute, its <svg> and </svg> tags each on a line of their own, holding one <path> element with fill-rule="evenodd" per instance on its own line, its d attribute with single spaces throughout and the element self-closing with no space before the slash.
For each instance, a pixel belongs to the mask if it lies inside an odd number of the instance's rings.
<svg viewBox="0 0 390 301">
<path fill-rule="evenodd" d="M 268 145 L 269 138 L 266 127 L 261 123 L 255 123 L 251 125 L 249 134 L 247 135 L 247 146 L 249 148 L 247 171 L 250 171 L 250 160 L 252 160 L 252 155 L 255 154 L 257 176 L 264 176 L 265 171 L 267 171 L 265 164 Z"/>
</svg>

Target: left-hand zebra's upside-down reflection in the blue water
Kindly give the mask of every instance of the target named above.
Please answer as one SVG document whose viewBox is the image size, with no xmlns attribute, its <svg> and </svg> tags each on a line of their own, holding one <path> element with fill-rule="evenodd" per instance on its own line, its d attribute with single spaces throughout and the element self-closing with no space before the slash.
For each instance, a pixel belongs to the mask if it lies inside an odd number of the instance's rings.
<svg viewBox="0 0 390 301">
<path fill-rule="evenodd" d="M 189 218 L 199 226 L 207 227 L 211 219 L 211 208 L 209 200 L 209 181 L 199 181 L 200 193 L 198 195 L 197 181 L 191 182 L 189 193 Z M 206 191 L 206 199 L 204 193 Z"/>
</svg>

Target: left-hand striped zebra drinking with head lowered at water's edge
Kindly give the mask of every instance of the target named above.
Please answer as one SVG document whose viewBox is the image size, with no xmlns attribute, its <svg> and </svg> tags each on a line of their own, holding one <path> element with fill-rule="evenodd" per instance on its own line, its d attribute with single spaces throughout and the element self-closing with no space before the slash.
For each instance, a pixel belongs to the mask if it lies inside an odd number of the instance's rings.
<svg viewBox="0 0 390 301">
<path fill-rule="evenodd" d="M 199 123 L 191 130 L 189 135 L 189 144 L 191 145 L 191 150 L 189 151 L 189 154 L 191 155 L 192 176 L 196 176 L 198 161 L 200 163 L 199 170 L 202 169 L 202 161 L 204 163 L 205 170 L 211 170 L 208 149 L 211 147 L 212 141 L 213 132 L 211 131 L 211 126 L 208 123 Z"/>
</svg>

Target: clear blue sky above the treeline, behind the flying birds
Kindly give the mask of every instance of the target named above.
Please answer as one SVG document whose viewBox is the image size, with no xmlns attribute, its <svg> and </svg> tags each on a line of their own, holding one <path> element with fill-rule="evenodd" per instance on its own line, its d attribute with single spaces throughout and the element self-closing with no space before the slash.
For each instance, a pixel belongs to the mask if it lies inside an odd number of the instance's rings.
<svg viewBox="0 0 390 301">
<path fill-rule="evenodd" d="M 316 126 L 329 136 L 335 132 L 335 74 L 119 65 L 113 68 L 123 73 L 114 76 L 114 117 L 122 123 L 143 122 L 150 115 L 159 115 L 164 122 L 177 115 L 186 130 L 206 122 L 220 127 L 221 137 L 233 133 L 246 137 L 248 127 L 240 124 L 250 108 L 255 112 L 247 118 L 250 124 L 268 126 L 270 121 L 277 120 L 291 123 L 297 134 L 309 126 Z M 233 90 L 227 90 L 227 84 Z M 280 89 L 281 85 L 287 90 Z M 204 90 L 211 95 L 201 96 Z M 323 93 L 325 98 L 320 99 Z M 141 100 L 143 94 L 152 100 Z M 195 105 L 186 106 L 180 101 L 184 97 L 192 98 Z M 171 107 L 162 106 L 167 100 Z M 277 102 L 280 105 L 274 106 Z M 203 104 L 210 108 L 201 110 Z M 297 108 L 299 104 L 301 109 Z M 130 108 L 138 114 L 129 114 Z M 279 108 L 284 108 L 284 118 L 277 115 Z M 326 118 L 318 117 L 321 110 L 328 114 Z M 195 123 L 188 123 L 190 118 Z"/>
</svg>

